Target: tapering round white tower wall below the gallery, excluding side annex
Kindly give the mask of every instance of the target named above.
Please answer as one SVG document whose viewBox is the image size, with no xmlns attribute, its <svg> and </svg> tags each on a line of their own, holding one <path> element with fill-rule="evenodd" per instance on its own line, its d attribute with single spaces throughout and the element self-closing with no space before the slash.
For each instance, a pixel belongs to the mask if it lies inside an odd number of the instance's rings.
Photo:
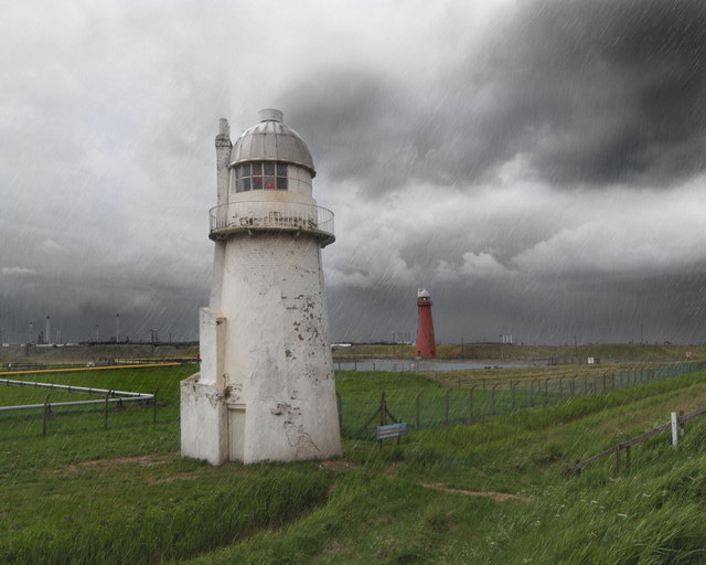
<svg viewBox="0 0 706 565">
<path fill-rule="evenodd" d="M 244 462 L 340 454 L 319 243 L 235 237 L 224 269 L 225 382 L 229 402 L 245 405 Z"/>
</svg>

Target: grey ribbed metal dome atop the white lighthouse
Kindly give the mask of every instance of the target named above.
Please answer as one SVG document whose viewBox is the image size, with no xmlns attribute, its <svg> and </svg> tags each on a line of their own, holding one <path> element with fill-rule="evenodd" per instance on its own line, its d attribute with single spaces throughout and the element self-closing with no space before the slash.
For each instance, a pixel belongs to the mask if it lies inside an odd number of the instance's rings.
<svg viewBox="0 0 706 565">
<path fill-rule="evenodd" d="M 233 145 L 231 167 L 253 161 L 279 161 L 299 164 L 315 175 L 313 160 L 304 140 L 282 124 L 282 113 L 259 111 L 260 121 L 246 129 Z"/>
</svg>

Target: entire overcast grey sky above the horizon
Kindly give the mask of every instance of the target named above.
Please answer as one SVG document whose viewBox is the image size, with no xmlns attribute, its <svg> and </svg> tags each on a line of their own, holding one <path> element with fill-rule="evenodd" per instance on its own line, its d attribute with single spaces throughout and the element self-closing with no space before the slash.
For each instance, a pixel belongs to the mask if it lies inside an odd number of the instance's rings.
<svg viewBox="0 0 706 565">
<path fill-rule="evenodd" d="M 196 339 L 220 117 L 308 142 L 331 338 L 706 340 L 706 2 L 24 1 L 0 338 Z"/>
</svg>

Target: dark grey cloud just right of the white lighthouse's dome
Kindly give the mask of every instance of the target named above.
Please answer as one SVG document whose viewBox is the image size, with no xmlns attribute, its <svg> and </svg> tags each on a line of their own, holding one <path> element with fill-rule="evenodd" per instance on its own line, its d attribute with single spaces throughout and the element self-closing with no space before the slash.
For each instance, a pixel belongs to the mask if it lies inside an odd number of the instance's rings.
<svg viewBox="0 0 706 565">
<path fill-rule="evenodd" d="M 366 194 L 381 195 L 419 181 L 452 184 L 482 159 L 472 126 L 459 129 L 453 108 L 429 100 L 440 94 L 434 87 L 410 89 L 374 68 L 319 72 L 315 84 L 286 97 L 292 121 L 311 125 L 304 137 L 334 181 L 360 181 Z"/>
</svg>

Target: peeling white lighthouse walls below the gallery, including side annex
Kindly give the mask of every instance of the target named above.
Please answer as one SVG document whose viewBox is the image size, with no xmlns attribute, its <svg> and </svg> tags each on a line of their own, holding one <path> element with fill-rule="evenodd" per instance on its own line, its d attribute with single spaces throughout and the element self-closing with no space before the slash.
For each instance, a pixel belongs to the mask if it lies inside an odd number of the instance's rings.
<svg viewBox="0 0 706 565">
<path fill-rule="evenodd" d="M 182 455 L 213 465 L 339 455 L 319 242 L 254 232 L 221 246 L 220 310 L 201 310 L 201 373 L 181 384 Z"/>
</svg>

